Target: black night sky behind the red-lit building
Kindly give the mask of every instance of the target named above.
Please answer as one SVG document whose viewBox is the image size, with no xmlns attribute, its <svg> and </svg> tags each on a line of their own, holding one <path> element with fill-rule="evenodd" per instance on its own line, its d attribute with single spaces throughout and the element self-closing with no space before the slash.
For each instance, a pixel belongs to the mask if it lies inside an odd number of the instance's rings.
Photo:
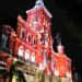
<svg viewBox="0 0 82 82">
<path fill-rule="evenodd" d="M 32 9 L 36 0 L 0 0 L 0 24 L 16 30 L 16 16 L 26 19 L 25 11 Z M 61 34 L 65 52 L 72 59 L 74 70 L 82 74 L 82 0 L 44 0 L 52 14 L 51 33 L 55 39 Z M 56 39 L 54 48 L 56 50 Z"/>
</svg>

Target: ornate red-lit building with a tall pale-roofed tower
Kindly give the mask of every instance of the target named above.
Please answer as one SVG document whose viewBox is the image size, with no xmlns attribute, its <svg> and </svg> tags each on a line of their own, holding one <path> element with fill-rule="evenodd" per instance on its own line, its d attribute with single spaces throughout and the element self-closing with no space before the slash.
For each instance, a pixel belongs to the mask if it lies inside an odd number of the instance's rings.
<svg viewBox="0 0 82 82">
<path fill-rule="evenodd" d="M 3 26 L 0 62 L 1 69 L 7 73 L 0 82 L 22 82 L 15 77 L 15 70 L 22 71 L 26 82 L 72 82 L 71 60 L 65 55 L 59 35 L 57 35 L 58 52 L 52 49 L 54 39 L 50 33 L 52 15 L 43 0 L 37 0 L 35 7 L 27 10 L 26 14 L 26 21 L 21 15 L 17 16 L 16 32 L 8 25 Z M 15 67 L 11 69 L 13 65 Z M 12 79 L 9 72 L 13 74 Z"/>
</svg>

